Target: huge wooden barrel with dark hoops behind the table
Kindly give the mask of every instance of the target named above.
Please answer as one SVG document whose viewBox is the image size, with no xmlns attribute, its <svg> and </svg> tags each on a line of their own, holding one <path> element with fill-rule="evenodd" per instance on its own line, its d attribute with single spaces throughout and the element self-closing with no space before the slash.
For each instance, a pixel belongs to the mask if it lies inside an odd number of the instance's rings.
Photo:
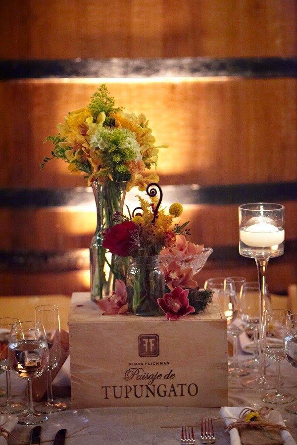
<svg viewBox="0 0 297 445">
<path fill-rule="evenodd" d="M 238 252 L 247 201 L 285 205 L 285 254 L 268 281 L 272 292 L 296 281 L 295 0 L 12 0 L 0 14 L 1 295 L 89 290 L 92 191 L 62 161 L 39 164 L 45 137 L 101 83 L 169 146 L 164 201 L 185 204 L 191 239 L 214 249 L 199 285 L 256 278 Z"/>
</svg>

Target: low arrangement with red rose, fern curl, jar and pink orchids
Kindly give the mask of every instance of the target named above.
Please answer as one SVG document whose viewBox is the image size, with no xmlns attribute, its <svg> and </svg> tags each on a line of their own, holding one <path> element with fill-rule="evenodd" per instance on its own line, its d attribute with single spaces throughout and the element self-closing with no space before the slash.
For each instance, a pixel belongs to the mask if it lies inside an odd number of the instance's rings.
<svg viewBox="0 0 297 445">
<path fill-rule="evenodd" d="M 137 315 L 149 316 L 165 312 L 169 320 L 199 313 L 211 301 L 211 292 L 198 289 L 193 277 L 195 270 L 191 267 L 179 265 L 175 260 L 167 266 L 163 262 L 163 252 L 171 255 L 176 252 L 177 260 L 181 256 L 187 258 L 189 252 L 202 255 L 204 264 L 212 249 L 185 241 L 184 234 L 189 234 L 188 222 L 174 224 L 174 219 L 183 211 L 180 203 L 172 204 L 167 212 L 160 207 L 162 192 L 157 184 L 148 185 L 147 193 L 150 200 L 139 197 L 140 207 L 132 214 L 129 212 L 129 216 L 117 213 L 115 218 L 119 223 L 103 232 L 104 247 L 120 256 L 129 255 L 132 260 L 127 272 L 126 292 L 118 282 L 120 292 L 99 301 L 99 307 L 105 313 L 130 310 Z"/>
</svg>

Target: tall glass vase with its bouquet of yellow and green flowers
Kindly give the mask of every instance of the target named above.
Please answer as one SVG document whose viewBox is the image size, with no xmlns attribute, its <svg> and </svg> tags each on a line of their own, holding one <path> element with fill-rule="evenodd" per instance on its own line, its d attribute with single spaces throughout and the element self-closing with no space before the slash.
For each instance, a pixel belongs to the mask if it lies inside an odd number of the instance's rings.
<svg viewBox="0 0 297 445">
<path fill-rule="evenodd" d="M 71 173 L 83 173 L 91 185 L 97 204 L 97 228 L 90 249 L 91 298 L 110 295 L 115 278 L 124 278 L 123 262 L 114 255 L 106 257 L 102 246 L 102 230 L 118 221 L 115 212 L 123 211 L 126 191 L 133 186 L 145 190 L 148 183 L 157 182 L 155 172 L 158 148 L 144 114 L 124 113 L 115 107 L 105 85 L 101 85 L 88 106 L 71 111 L 59 124 L 58 134 L 46 142 L 54 146 L 41 168 L 59 158 L 68 164 Z"/>
</svg>

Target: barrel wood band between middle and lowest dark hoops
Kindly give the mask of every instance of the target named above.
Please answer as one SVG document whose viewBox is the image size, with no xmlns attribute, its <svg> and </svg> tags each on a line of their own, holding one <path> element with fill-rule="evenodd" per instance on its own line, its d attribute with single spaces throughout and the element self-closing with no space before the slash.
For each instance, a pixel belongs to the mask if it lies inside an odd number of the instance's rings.
<svg viewBox="0 0 297 445">
<path fill-rule="evenodd" d="M 281 202 L 286 211 L 286 241 L 297 240 L 297 201 Z M 190 221 L 191 239 L 205 247 L 238 243 L 238 205 L 185 205 L 181 223 Z M 89 248 L 96 228 L 96 212 L 49 209 L 0 208 L 0 251 L 35 250 L 64 252 Z M 13 224 L 11 222 L 13 221 Z M 219 221 L 219 223 L 218 223 Z"/>
</svg>

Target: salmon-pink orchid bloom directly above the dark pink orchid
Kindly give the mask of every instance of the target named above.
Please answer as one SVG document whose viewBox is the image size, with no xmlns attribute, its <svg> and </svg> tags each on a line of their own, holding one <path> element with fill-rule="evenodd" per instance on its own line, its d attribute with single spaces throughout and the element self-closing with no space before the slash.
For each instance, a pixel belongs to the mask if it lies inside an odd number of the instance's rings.
<svg viewBox="0 0 297 445">
<path fill-rule="evenodd" d="M 166 267 L 164 264 L 161 268 L 165 275 L 165 282 L 172 291 L 177 286 L 182 288 L 196 289 L 197 281 L 193 280 L 193 269 L 191 267 L 182 268 L 176 261 L 171 261 Z"/>
</svg>

